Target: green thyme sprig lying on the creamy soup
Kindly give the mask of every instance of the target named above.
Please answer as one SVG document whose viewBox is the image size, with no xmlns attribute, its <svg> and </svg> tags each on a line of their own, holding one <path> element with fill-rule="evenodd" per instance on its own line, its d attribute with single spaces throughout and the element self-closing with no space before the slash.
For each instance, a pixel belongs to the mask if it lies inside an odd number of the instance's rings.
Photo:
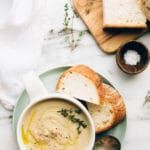
<svg viewBox="0 0 150 150">
<path fill-rule="evenodd" d="M 81 134 L 82 129 L 87 128 L 87 124 L 85 123 L 85 121 L 80 120 L 79 118 L 77 118 L 75 116 L 75 114 L 81 114 L 82 111 L 80 109 L 61 109 L 60 111 L 57 111 L 58 113 L 60 113 L 63 117 L 69 119 L 72 123 L 77 124 L 77 131 L 78 134 Z"/>
</svg>

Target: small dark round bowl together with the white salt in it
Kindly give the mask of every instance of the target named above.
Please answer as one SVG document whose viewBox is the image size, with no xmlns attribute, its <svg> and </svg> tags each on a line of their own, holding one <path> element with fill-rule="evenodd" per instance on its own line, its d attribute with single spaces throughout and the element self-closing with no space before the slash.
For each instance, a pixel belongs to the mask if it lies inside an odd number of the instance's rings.
<svg viewBox="0 0 150 150">
<path fill-rule="evenodd" d="M 118 50 L 116 62 L 119 68 L 127 74 L 143 72 L 149 64 L 148 48 L 137 41 L 130 41 Z"/>
</svg>

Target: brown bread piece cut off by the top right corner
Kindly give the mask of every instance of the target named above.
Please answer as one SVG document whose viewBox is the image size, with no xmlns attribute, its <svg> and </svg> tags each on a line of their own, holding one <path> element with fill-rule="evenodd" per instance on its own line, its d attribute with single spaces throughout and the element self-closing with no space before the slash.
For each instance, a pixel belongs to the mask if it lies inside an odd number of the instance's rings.
<svg viewBox="0 0 150 150">
<path fill-rule="evenodd" d="M 150 0 L 140 0 L 141 9 L 144 12 L 147 19 L 150 21 Z"/>
</svg>

